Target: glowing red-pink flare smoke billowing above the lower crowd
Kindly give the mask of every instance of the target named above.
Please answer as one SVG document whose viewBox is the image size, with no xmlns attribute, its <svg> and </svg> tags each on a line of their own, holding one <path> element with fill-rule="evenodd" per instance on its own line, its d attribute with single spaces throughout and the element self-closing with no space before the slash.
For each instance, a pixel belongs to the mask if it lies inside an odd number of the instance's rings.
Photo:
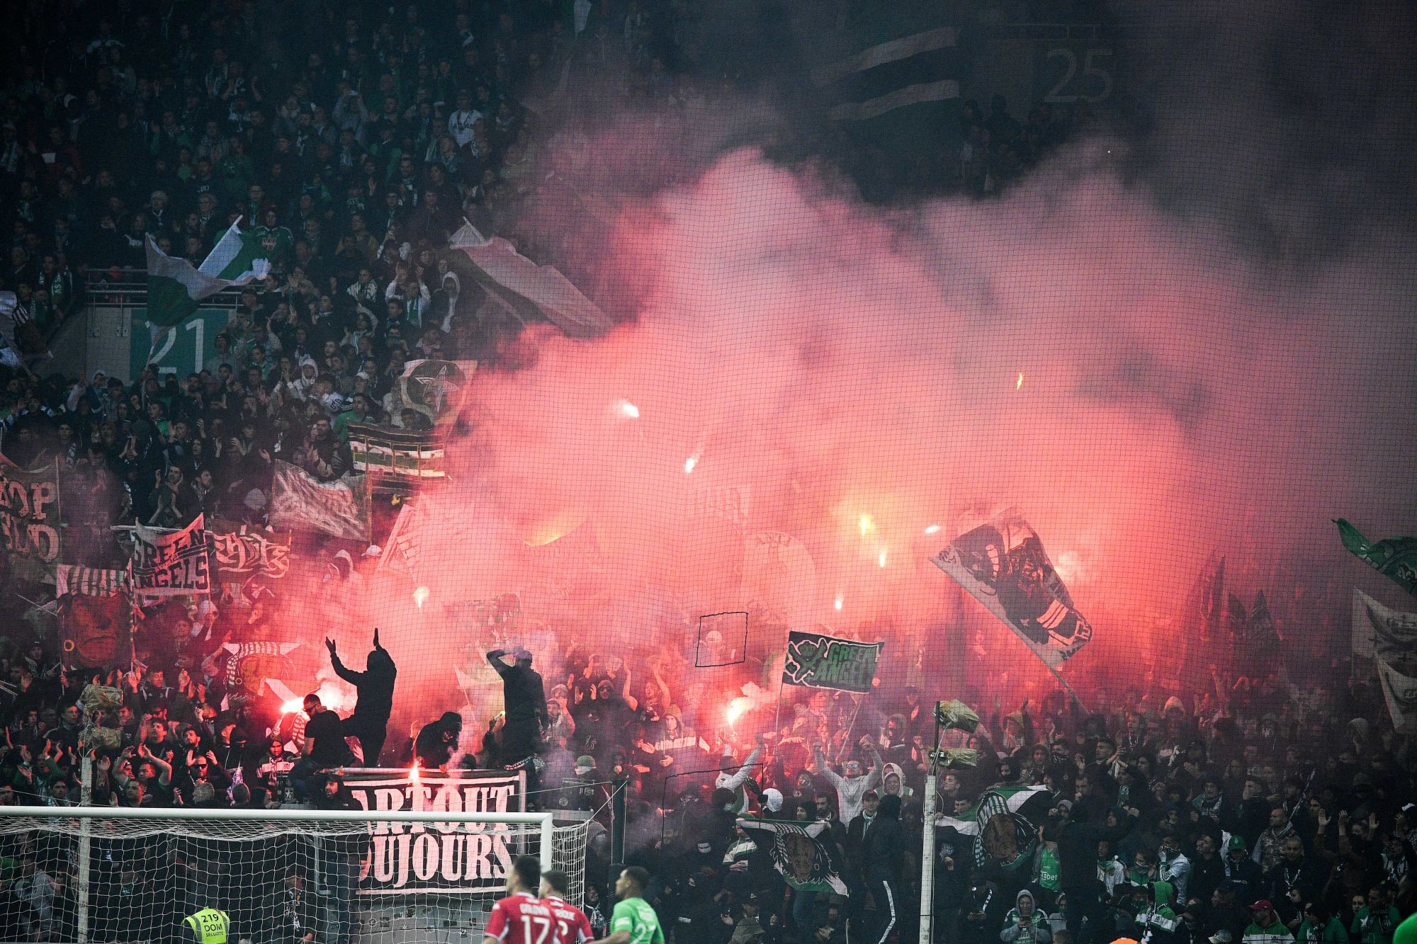
<svg viewBox="0 0 1417 944">
<path fill-rule="evenodd" d="M 738 150 L 621 201 L 578 262 L 633 286 L 633 319 L 594 342 L 543 332 L 529 367 L 475 377 L 453 481 L 422 499 L 421 571 L 373 577 L 341 644 L 383 626 L 402 697 L 418 687 L 431 717 L 461 703 L 470 634 L 451 604 L 521 591 L 543 651 L 572 632 L 582 649 L 682 648 L 699 615 L 747 608 L 740 571 L 758 567 L 796 624 L 887 625 L 887 661 L 924 646 L 958 672 L 978 632 L 986 668 L 1033 673 L 925 563 L 1009 505 L 1095 626 L 1066 673 L 1163 658 L 1213 550 L 1346 587 L 1359 566 L 1331 517 L 1417 526 L 1411 431 L 1393 420 L 1417 349 L 1391 278 L 1407 248 L 1277 272 L 1159 210 L 1104 152 L 1066 153 L 1002 200 L 881 210 Z M 703 489 L 737 489 L 745 532 L 798 539 L 811 567 L 795 547 L 734 566 Z M 529 544 L 578 526 L 599 563 L 547 573 Z M 536 590 L 577 568 L 594 618 Z"/>
</svg>

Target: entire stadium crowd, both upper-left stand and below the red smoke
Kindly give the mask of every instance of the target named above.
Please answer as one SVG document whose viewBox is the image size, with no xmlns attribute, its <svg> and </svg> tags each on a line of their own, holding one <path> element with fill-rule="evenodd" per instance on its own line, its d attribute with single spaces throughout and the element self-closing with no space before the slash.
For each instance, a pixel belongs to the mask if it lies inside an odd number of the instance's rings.
<svg viewBox="0 0 1417 944">
<path fill-rule="evenodd" d="M 275 458 L 333 481 L 350 468 L 351 420 L 418 428 L 395 384 L 404 363 L 496 359 L 516 329 L 459 278 L 449 234 L 468 220 L 575 268 L 521 227 L 547 186 L 538 122 L 594 109 L 589 75 L 594 88 L 611 75 L 628 99 L 680 109 L 700 95 L 683 35 L 701 14 L 687 3 L 23 6 L 0 89 L 0 291 L 17 298 L 6 329 L 16 356 L 0 366 L 3 451 L 21 468 L 57 459 L 86 485 L 69 489 L 65 549 L 92 567 L 123 564 L 108 522 L 261 524 Z M 969 105 L 964 149 L 932 173 L 995 193 L 1067 133 L 1049 108 L 1020 125 L 1002 101 L 988 116 Z M 271 240 L 273 274 L 241 293 L 207 370 L 147 369 L 132 383 L 47 373 L 45 339 L 88 291 L 103 292 L 105 272 L 143 268 L 149 235 L 198 261 L 237 217 Z M 366 566 L 349 553 L 327 563 L 339 578 Z M 530 731 L 509 703 L 485 730 L 463 733 L 451 712 L 370 751 L 388 706 L 361 702 L 353 727 L 333 729 L 337 716 L 307 700 L 302 730 L 228 697 L 220 644 L 232 636 L 215 621 L 230 614 L 149 614 L 146 663 L 95 675 L 61 663 L 52 614 L 28 605 L 35 591 L 6 585 L 26 595 L 0 600 L 0 805 L 77 804 L 89 755 L 101 805 L 337 807 L 339 780 L 319 771 L 353 760 L 351 733 L 367 763 L 496 768 L 534 753 L 536 801 L 599 818 L 606 787 L 626 781 L 628 859 L 649 870 L 646 900 L 679 944 L 905 941 L 922 893 L 935 940 L 949 944 L 1393 944 L 1417 909 L 1417 751 L 1369 686 L 1321 710 L 1278 685 L 1274 666 L 1219 679 L 1199 700 L 1159 683 L 1115 699 L 1094 686 L 1081 712 L 915 679 L 864 706 L 801 692 L 781 719 L 760 707 L 737 726 L 761 730 L 754 740 L 683 682 L 691 653 L 571 646 L 534 653 L 544 704 L 531 706 Z M 757 678 L 728 668 L 714 687 Z M 116 700 L 85 703 L 95 680 Z M 982 706 L 985 724 L 952 736 L 979 763 L 944 772 L 941 812 L 968 816 L 990 790 L 1047 794 L 1032 818 L 1019 814 L 1032 831 L 1022 865 L 1000 867 L 941 824 L 934 887 L 922 889 L 932 706 L 949 696 Z M 119 740 L 81 746 L 85 712 L 111 712 Z M 740 812 L 825 822 L 842 890 L 791 889 Z M 592 833 L 587 911 L 599 933 L 611 876 L 604 828 Z M 149 855 L 109 860 L 94 940 L 163 940 L 197 894 L 198 867 Z M 347 918 L 322 916 L 330 903 L 347 911 L 344 892 L 317 872 L 282 876 L 272 913 L 339 944 Z M 75 909 L 67 849 L 0 835 L 0 938 L 67 940 Z M 119 927 L 119 914 L 150 926 Z M 256 924 L 258 940 L 303 937 Z"/>
</svg>

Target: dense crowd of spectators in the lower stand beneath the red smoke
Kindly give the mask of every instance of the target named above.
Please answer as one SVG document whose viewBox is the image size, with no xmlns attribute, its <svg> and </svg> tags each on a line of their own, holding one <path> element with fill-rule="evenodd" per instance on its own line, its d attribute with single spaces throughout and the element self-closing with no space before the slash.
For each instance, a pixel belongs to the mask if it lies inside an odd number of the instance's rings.
<svg viewBox="0 0 1417 944">
<path fill-rule="evenodd" d="M 646 897 L 676 940 L 828 943 L 852 934 L 887 941 L 914 933 L 925 892 L 920 850 L 931 709 L 942 693 L 883 683 L 857 707 L 849 693 L 789 692 L 777 721 L 769 704 L 727 724 L 714 717 L 721 704 L 686 687 L 691 673 L 680 653 L 602 659 L 565 645 L 524 655 L 546 673 L 533 802 L 598 816 L 588 886 L 608 877 L 605 801 L 625 781 L 628 860 L 652 870 Z M 220 673 L 147 669 L 98 679 L 120 692 L 112 709 L 120 737 L 86 748 L 79 703 L 91 673 L 60 668 L 43 645 L 13 652 L 6 665 L 10 747 L 0 761 L 0 804 L 78 802 L 84 754 L 95 758 L 95 804 L 289 804 L 302 740 L 339 730 L 323 723 L 337 716 L 317 699 L 306 699 L 305 730 L 292 730 L 289 717 L 271 726 L 258 710 L 231 709 Z M 750 672 L 737 666 L 716 685 Z M 881 678 L 890 678 L 888 663 Z M 1394 734 L 1386 719 L 1339 723 L 1328 712 L 1304 713 L 1289 699 L 1261 695 L 1258 685 L 1237 692 L 1204 712 L 1136 689 L 1114 703 L 1093 692 L 1100 703 L 1093 713 L 1054 696 L 1012 712 L 993 700 L 973 734 L 948 731 L 947 744 L 973 748 L 979 760 L 944 771 L 941 815 L 971 821 L 989 791 L 1046 792 L 1032 812 L 1019 814 L 1024 855 L 1012 869 L 999 866 L 998 846 L 976 849 L 958 824 L 937 822 L 935 940 L 1391 944 L 1394 927 L 1414 910 L 1410 738 Z M 973 695 L 988 704 L 983 693 Z M 1352 697 L 1365 696 L 1355 690 Z M 680 700 L 703 709 L 682 709 Z M 503 767 L 514 760 L 507 750 L 520 754 L 506 741 L 506 717 L 465 733 L 463 716 L 446 713 L 417 737 L 394 740 L 383 760 Z M 755 729 L 761 734 L 740 733 Z M 353 741 L 324 746 L 315 767 L 353 760 L 346 750 Z M 337 780 L 309 782 L 306 802 L 340 802 Z M 738 815 L 825 824 L 822 845 L 847 894 L 794 892 Z M 1013 835 L 1016 824 L 1007 825 Z M 35 928 L 62 917 L 61 904 L 72 907 L 72 877 L 43 842 L 4 842 L 13 865 L 0 890 L 0 920 L 48 940 Z M 154 875 L 166 876 L 169 897 L 147 887 L 145 900 L 180 910 L 191 892 L 180 870 L 159 865 Z M 111 877 L 125 884 L 122 862 L 113 867 Z M 285 887 L 285 877 L 275 887 Z M 309 877 L 312 907 L 341 894 Z M 592 906 L 599 894 L 592 892 Z"/>
</svg>

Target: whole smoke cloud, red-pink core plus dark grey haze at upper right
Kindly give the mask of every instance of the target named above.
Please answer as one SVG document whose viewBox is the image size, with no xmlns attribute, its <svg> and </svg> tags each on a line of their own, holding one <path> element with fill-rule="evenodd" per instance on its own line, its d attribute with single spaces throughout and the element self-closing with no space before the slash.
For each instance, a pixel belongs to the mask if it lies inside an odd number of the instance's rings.
<svg viewBox="0 0 1417 944">
<path fill-rule="evenodd" d="M 1314 590 L 1287 644 L 1340 649 L 1332 621 L 1372 575 L 1329 519 L 1417 529 L 1417 190 L 1383 142 L 1414 60 L 1373 7 L 1319 48 L 1316 6 L 1192 6 L 1165 54 L 1159 20 L 1136 33 L 1155 123 L 1074 143 L 998 200 L 867 206 L 826 164 L 720 150 L 743 122 L 713 98 L 680 126 L 621 113 L 548 136 L 543 160 L 595 211 L 544 201 L 526 225 L 623 323 L 531 332 L 517 369 L 476 376 L 453 482 L 424 498 L 421 571 L 371 577 L 353 624 L 385 626 L 404 697 L 424 717 L 458 697 L 452 665 L 478 655 L 458 652 L 458 607 L 509 591 L 538 624 L 527 642 L 691 646 L 701 615 L 751 609 L 771 583 L 734 516 L 809 554 L 772 561 L 795 625 L 884 634 L 938 678 L 964 672 L 961 628 L 978 668 L 1041 672 L 927 563 L 1010 505 L 1097 629 L 1074 678 L 1122 685 L 1165 658 L 1213 551 L 1238 585 L 1282 570 L 1281 592 Z M 1270 54 L 1251 65 L 1254 43 Z M 1295 84 L 1305 50 L 1322 75 Z M 1316 126 L 1365 89 L 1367 119 Z M 757 615 L 750 636 L 768 634 Z"/>
</svg>

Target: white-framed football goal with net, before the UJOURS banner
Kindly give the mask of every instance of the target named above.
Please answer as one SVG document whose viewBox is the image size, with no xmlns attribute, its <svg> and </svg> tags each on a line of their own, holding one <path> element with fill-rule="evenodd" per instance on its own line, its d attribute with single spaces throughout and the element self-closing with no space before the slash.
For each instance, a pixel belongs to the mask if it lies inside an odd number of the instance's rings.
<svg viewBox="0 0 1417 944">
<path fill-rule="evenodd" d="M 234 943 L 480 941 L 519 855 L 580 903 L 585 835 L 551 814 L 11 807 L 0 941 L 176 941 L 204 907 Z"/>
</svg>

